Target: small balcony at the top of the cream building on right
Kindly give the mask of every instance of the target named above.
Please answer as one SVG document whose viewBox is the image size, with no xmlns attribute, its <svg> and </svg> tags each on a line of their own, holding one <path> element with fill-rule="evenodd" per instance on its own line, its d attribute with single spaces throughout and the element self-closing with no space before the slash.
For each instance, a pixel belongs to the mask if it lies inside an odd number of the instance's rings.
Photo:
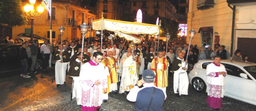
<svg viewBox="0 0 256 111">
<path fill-rule="evenodd" d="M 214 6 L 214 0 L 197 0 L 197 9 L 205 10 Z"/>
</svg>

